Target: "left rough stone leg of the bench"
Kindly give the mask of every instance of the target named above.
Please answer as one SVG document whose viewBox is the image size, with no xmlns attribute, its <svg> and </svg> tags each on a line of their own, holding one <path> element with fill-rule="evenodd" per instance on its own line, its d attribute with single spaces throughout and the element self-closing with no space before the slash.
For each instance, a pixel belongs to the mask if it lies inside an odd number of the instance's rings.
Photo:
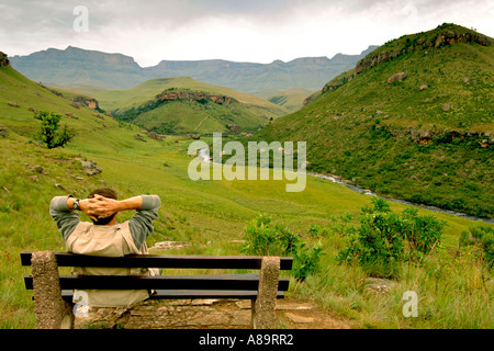
<svg viewBox="0 0 494 351">
<path fill-rule="evenodd" d="M 69 329 L 74 325 L 70 304 L 61 298 L 58 264 L 52 251 L 33 252 L 34 314 L 36 329 Z"/>
</svg>

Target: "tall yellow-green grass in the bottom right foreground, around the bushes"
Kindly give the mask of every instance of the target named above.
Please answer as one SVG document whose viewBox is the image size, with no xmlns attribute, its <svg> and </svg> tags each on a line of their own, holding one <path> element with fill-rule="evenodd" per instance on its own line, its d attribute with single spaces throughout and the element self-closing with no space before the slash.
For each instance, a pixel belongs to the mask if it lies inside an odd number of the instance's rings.
<svg viewBox="0 0 494 351">
<path fill-rule="evenodd" d="M 494 327 L 492 271 L 472 248 L 461 251 L 436 248 L 419 263 L 401 264 L 400 279 L 388 292 L 369 288 L 367 273 L 352 263 L 339 264 L 336 254 L 343 237 L 328 230 L 323 256 L 324 273 L 301 285 L 301 296 L 363 328 L 491 329 Z M 418 317 L 405 317 L 405 292 L 418 296 Z"/>
</svg>

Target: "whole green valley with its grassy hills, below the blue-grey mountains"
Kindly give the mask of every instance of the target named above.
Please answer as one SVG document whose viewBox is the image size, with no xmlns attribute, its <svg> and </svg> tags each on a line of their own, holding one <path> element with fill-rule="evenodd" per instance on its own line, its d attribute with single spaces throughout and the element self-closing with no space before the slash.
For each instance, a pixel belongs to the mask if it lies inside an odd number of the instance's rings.
<svg viewBox="0 0 494 351">
<path fill-rule="evenodd" d="M 117 82 L 125 89 L 86 84 L 92 79 L 45 86 L 0 55 L 0 328 L 34 328 L 31 293 L 22 280 L 29 270 L 19 253 L 65 249 L 47 213 L 50 199 L 85 197 L 101 186 L 115 189 L 120 197 L 159 194 L 162 205 L 148 246 L 189 245 L 155 253 L 245 254 L 248 228 L 270 218 L 281 233 L 303 240 L 297 260 L 319 252 L 318 270 L 302 280 L 292 275 L 288 296 L 349 320 L 352 328 L 492 328 L 494 280 L 486 265 L 492 241 L 465 242 L 475 228 L 492 234 L 494 225 L 392 201 L 386 215 L 369 214 L 377 197 L 341 183 L 493 218 L 494 45 L 489 37 L 483 45 L 483 38 L 445 24 L 390 41 L 316 89 L 255 87 L 265 90 L 262 98 L 184 76 L 136 79 L 128 87 L 122 78 Z M 114 58 L 113 69 L 136 66 Z M 112 71 L 106 68 L 101 69 Z M 301 103 L 301 95 L 312 91 L 312 99 Z M 292 103 L 290 97 L 299 98 Z M 60 126 L 75 131 L 65 148 L 43 144 L 34 118 L 40 111 L 59 114 Z M 272 177 L 193 181 L 188 173 L 192 137 L 211 145 L 213 132 L 244 145 L 307 141 L 308 172 L 341 182 L 307 177 L 303 192 L 289 193 L 288 181 Z M 101 172 L 88 172 L 88 160 Z M 212 165 L 211 171 L 222 167 Z M 119 220 L 130 215 L 122 213 Z M 444 224 L 442 236 L 418 261 L 400 261 L 400 274 L 377 276 L 357 260 L 340 260 L 372 216 L 396 219 L 393 225 L 405 228 L 434 218 Z M 411 291 L 419 296 L 416 318 L 402 313 L 403 296 Z"/>
</svg>

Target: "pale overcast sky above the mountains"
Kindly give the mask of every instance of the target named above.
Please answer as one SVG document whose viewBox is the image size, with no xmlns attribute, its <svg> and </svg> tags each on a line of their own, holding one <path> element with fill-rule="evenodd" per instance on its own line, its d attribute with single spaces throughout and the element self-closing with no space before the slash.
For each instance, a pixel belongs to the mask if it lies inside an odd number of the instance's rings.
<svg viewBox="0 0 494 351">
<path fill-rule="evenodd" d="M 74 14 L 78 5 L 88 10 L 87 22 Z M 267 64 L 360 54 L 444 22 L 494 37 L 494 1 L 0 0 L 0 50 L 29 55 L 71 45 L 122 53 L 142 67 L 162 59 Z"/>
</svg>

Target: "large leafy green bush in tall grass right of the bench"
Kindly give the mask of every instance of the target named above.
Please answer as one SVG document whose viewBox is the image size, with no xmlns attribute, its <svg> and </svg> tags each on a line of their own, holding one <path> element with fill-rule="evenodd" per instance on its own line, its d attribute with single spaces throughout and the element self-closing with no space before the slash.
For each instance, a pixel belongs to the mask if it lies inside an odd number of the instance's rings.
<svg viewBox="0 0 494 351">
<path fill-rule="evenodd" d="M 444 222 L 419 216 L 415 208 L 395 214 L 377 196 L 371 203 L 373 206 L 362 208 L 360 227 L 348 233 L 348 245 L 339 251 L 338 262 L 356 261 L 370 275 L 395 278 L 402 262 L 419 262 L 440 244 Z"/>
</svg>

